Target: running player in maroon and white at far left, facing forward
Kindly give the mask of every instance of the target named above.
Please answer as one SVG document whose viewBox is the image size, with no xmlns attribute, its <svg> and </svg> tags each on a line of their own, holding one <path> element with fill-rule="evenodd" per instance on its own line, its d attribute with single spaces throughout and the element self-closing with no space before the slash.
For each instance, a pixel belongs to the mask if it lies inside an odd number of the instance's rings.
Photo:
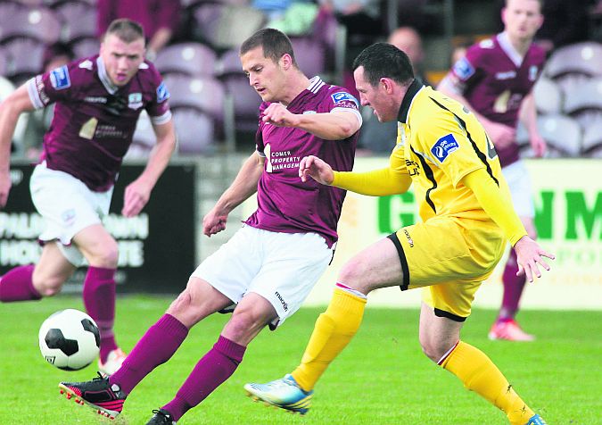
<svg viewBox="0 0 602 425">
<path fill-rule="evenodd" d="M 0 278 L 0 301 L 54 296 L 84 259 L 88 269 L 83 298 L 101 331 L 99 369 L 111 374 L 125 354 L 113 335 L 117 242 L 104 229 L 121 160 L 145 109 L 157 145 L 143 173 L 126 187 L 122 214 L 139 213 L 176 146 L 169 92 L 152 63 L 144 61 L 144 32 L 134 21 L 113 21 L 100 54 L 30 79 L 0 105 L 0 207 L 11 179 L 9 149 L 21 112 L 55 104 L 52 125 L 30 189 L 45 219 L 39 262 Z"/>
</svg>

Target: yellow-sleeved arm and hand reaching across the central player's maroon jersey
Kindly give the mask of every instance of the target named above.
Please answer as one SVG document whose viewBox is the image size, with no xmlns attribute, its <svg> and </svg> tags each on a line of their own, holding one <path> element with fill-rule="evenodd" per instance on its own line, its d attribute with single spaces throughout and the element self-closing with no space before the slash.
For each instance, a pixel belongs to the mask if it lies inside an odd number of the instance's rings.
<svg viewBox="0 0 602 425">
<path fill-rule="evenodd" d="M 412 184 L 405 167 L 397 167 L 392 155 L 391 165 L 381 170 L 367 172 L 333 171 L 330 165 L 317 156 L 306 156 L 299 164 L 299 176 L 308 176 L 323 185 L 340 187 L 368 196 L 387 196 L 405 193 Z"/>
</svg>

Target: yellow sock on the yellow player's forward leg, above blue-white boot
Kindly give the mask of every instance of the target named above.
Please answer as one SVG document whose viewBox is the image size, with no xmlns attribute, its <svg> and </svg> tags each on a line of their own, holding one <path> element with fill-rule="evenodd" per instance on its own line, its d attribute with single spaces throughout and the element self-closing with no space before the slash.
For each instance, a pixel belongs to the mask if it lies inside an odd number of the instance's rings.
<svg viewBox="0 0 602 425">
<path fill-rule="evenodd" d="M 339 284 L 334 288 L 334 296 L 326 312 L 317 318 L 301 364 L 292 373 L 297 384 L 305 391 L 313 389 L 330 362 L 356 334 L 366 301 L 366 296 L 351 293 Z"/>
</svg>

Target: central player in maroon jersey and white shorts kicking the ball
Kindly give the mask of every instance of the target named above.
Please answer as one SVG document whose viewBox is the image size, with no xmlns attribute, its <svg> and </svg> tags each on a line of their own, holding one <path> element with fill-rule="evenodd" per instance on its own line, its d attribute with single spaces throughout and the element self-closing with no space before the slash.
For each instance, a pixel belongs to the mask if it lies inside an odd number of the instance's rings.
<svg viewBox="0 0 602 425">
<path fill-rule="evenodd" d="M 229 212 L 255 192 L 257 211 L 193 272 L 119 371 L 106 379 L 60 384 L 68 396 L 105 416 L 121 412 L 128 394 L 169 360 L 188 329 L 214 312 L 233 311 L 177 395 L 148 422 L 176 423 L 234 373 L 261 329 L 276 329 L 299 309 L 333 257 L 346 192 L 302 182 L 299 162 L 320 154 L 350 171 L 361 126 L 359 103 L 342 87 L 308 79 L 295 62 L 291 41 L 276 29 L 260 29 L 240 54 L 243 71 L 263 100 L 256 151 L 205 215 L 203 233 L 225 229 Z"/>
</svg>

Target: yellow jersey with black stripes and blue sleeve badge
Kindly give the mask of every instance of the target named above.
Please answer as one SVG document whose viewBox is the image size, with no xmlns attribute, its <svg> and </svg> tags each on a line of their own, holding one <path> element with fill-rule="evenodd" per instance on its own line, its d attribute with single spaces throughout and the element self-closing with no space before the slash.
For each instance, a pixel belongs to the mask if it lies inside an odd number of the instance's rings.
<svg viewBox="0 0 602 425">
<path fill-rule="evenodd" d="M 435 215 L 491 220 L 460 180 L 485 169 L 499 187 L 498 154 L 474 113 L 456 100 L 415 80 L 400 106 L 390 161 L 412 179 L 423 221 Z"/>
</svg>

